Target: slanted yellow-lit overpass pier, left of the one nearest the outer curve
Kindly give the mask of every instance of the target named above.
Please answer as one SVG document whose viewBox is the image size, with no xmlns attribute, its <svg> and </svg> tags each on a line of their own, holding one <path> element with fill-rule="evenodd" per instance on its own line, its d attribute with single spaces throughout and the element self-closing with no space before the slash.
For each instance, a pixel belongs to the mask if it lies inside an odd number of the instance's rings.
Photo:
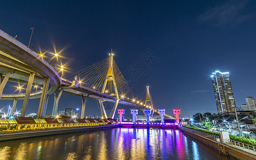
<svg viewBox="0 0 256 160">
<path fill-rule="evenodd" d="M 22 105 L 21 112 L 20 112 L 20 117 L 25 117 L 25 115 L 26 115 L 29 95 L 30 95 L 30 92 L 32 89 L 34 77 L 35 77 L 35 73 L 30 73 L 29 79 L 28 79 L 28 84 L 27 84 L 27 89 L 26 89 L 26 93 L 25 93 L 25 98 L 24 98 L 23 105 Z"/>
</svg>

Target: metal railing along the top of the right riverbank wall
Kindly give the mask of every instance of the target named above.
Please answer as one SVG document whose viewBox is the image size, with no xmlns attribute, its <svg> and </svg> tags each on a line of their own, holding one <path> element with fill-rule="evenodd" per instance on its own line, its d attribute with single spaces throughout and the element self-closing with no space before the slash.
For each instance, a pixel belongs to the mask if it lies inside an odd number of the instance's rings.
<svg viewBox="0 0 256 160">
<path fill-rule="evenodd" d="M 185 129 L 193 131 L 193 132 L 197 132 L 197 133 L 200 133 L 200 134 L 204 134 L 204 135 L 207 135 L 207 136 L 210 136 L 210 137 L 214 138 L 216 141 L 218 141 L 217 139 L 222 140 L 221 137 L 219 137 L 218 135 L 213 135 L 213 134 L 210 134 L 210 133 L 206 133 L 206 132 L 190 129 L 188 127 L 185 127 Z M 253 150 L 254 152 L 256 152 L 255 151 L 255 146 L 248 145 L 246 143 L 234 141 L 234 140 L 231 140 L 231 139 L 224 139 L 223 143 L 229 143 L 230 145 L 235 145 L 235 146 L 238 146 L 238 147 L 243 147 L 244 149 L 249 149 L 249 150 Z"/>
</svg>

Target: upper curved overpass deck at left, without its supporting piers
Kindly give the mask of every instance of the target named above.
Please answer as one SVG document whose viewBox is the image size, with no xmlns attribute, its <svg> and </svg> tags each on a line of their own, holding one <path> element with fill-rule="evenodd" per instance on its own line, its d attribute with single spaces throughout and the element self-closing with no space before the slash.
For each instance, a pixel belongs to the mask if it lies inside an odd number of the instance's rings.
<svg viewBox="0 0 256 160">
<path fill-rule="evenodd" d="M 29 74 L 34 73 L 33 83 L 43 85 L 44 78 L 49 77 L 48 94 L 52 94 L 60 87 L 60 76 L 48 62 L 0 30 L 0 73 L 5 76 L 7 71 L 12 73 L 9 80 L 12 82 L 27 83 Z"/>
</svg>

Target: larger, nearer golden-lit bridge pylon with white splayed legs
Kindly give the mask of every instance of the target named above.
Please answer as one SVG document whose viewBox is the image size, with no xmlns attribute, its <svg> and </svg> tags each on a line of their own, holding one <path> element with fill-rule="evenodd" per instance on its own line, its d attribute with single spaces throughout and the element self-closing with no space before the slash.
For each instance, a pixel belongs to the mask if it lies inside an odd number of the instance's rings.
<svg viewBox="0 0 256 160">
<path fill-rule="evenodd" d="M 114 70 L 113 70 L 113 55 L 114 55 L 114 53 L 112 52 L 112 49 L 111 49 L 111 52 L 110 52 L 109 55 L 110 55 L 110 66 L 108 67 L 108 70 L 107 70 L 107 75 L 106 75 L 105 82 L 104 82 L 104 85 L 103 85 L 103 88 L 102 88 L 102 93 L 105 93 L 107 83 L 113 82 L 114 91 L 115 91 L 115 98 L 117 99 L 117 101 L 115 101 L 115 103 L 114 103 L 114 107 L 112 108 L 110 116 L 109 116 L 109 118 L 113 119 L 114 116 L 115 116 L 115 111 L 117 110 L 117 107 L 118 107 L 119 94 L 118 94 L 117 83 L 115 81 L 115 75 L 114 75 Z M 100 101 L 100 100 L 99 100 L 99 105 L 100 105 L 100 110 L 102 111 L 102 117 L 107 118 L 106 117 L 106 111 L 105 111 L 105 108 L 103 106 L 103 102 Z"/>
</svg>

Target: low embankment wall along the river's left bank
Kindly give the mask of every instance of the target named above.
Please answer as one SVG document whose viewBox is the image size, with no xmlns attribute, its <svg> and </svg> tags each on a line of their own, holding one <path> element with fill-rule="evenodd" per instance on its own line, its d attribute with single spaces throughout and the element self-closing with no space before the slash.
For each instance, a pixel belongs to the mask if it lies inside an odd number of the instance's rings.
<svg viewBox="0 0 256 160">
<path fill-rule="evenodd" d="M 118 126 L 106 125 L 106 126 L 93 126 L 93 127 L 76 127 L 71 129 L 54 129 L 54 130 L 41 130 L 41 131 L 24 131 L 24 132 L 15 132 L 15 133 L 1 133 L 0 141 L 25 139 L 25 138 L 41 137 L 41 136 L 56 135 L 56 134 L 66 134 L 66 133 L 74 133 L 74 132 L 96 131 L 96 130 L 112 129 L 114 127 L 118 127 Z"/>
</svg>

